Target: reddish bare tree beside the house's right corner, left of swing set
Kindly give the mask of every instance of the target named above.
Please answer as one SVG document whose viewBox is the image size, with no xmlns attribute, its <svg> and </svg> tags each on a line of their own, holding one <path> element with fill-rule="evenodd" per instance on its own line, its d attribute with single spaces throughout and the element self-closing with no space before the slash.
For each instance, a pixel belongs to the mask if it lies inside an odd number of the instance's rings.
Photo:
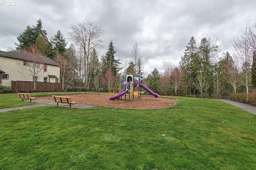
<svg viewBox="0 0 256 170">
<path fill-rule="evenodd" d="M 72 66 L 68 62 L 68 57 L 60 54 L 54 58 L 54 61 L 56 61 L 60 67 L 60 79 L 62 82 L 62 90 L 64 90 L 64 84 L 73 77 Z"/>
</svg>

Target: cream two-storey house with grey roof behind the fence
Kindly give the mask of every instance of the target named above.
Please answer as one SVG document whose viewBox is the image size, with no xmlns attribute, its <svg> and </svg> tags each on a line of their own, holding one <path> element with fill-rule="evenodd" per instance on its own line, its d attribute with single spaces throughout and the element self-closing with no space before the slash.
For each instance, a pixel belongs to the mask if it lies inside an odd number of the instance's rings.
<svg viewBox="0 0 256 170">
<path fill-rule="evenodd" d="M 48 57 L 23 51 L 0 51 L 0 85 L 12 81 L 60 82 L 60 67 Z"/>
</svg>

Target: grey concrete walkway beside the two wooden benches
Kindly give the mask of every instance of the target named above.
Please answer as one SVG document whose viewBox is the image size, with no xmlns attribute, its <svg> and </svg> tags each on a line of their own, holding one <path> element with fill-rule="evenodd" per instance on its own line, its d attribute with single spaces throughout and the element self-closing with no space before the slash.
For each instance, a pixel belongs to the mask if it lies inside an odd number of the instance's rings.
<svg viewBox="0 0 256 170">
<path fill-rule="evenodd" d="M 24 100 L 24 102 L 30 102 L 30 100 Z M 50 106 L 50 105 L 54 106 L 55 105 L 57 107 L 57 103 L 54 102 L 53 100 L 36 99 L 36 100 L 33 100 L 33 102 L 36 102 L 36 104 L 26 105 L 26 106 L 17 106 L 17 107 L 3 108 L 3 109 L 0 109 L 0 113 L 6 112 L 6 111 L 19 110 L 19 109 L 40 107 L 40 106 Z M 59 103 L 59 107 L 68 107 L 69 108 L 69 104 Z M 91 107 L 95 107 L 95 106 L 86 105 L 86 104 L 74 104 L 74 105 L 71 105 L 71 108 L 78 108 L 78 109 L 87 109 L 87 108 L 91 108 Z"/>
</svg>

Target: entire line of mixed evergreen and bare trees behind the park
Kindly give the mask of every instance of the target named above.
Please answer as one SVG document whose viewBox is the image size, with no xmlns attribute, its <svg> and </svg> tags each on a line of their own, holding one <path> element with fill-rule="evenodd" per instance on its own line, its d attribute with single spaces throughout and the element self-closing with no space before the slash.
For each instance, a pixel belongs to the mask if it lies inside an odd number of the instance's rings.
<svg viewBox="0 0 256 170">
<path fill-rule="evenodd" d="M 78 82 L 80 87 L 87 87 L 86 78 L 92 78 L 96 88 L 112 90 L 125 74 L 144 77 L 143 57 L 138 43 L 134 43 L 128 67 L 122 68 L 122 63 L 115 57 L 112 40 L 108 51 L 99 56 L 104 48 L 101 27 L 91 21 L 76 21 L 69 28 L 68 40 L 71 44 L 66 47 L 66 39 L 60 30 L 49 40 L 39 19 L 36 26 L 28 25 L 20 33 L 16 48 L 28 50 L 34 44 L 40 55 L 56 61 L 60 66 L 63 88 L 72 78 L 85 78 Z M 248 93 L 250 87 L 256 87 L 255 37 L 248 25 L 233 44 L 234 52 L 230 54 L 227 51 L 222 55 L 219 55 L 218 39 L 204 37 L 200 43 L 196 43 L 191 37 L 178 66 L 168 67 L 161 73 L 155 68 L 143 83 L 160 94 L 177 96 L 222 98 L 241 92 L 244 88 Z"/>
</svg>

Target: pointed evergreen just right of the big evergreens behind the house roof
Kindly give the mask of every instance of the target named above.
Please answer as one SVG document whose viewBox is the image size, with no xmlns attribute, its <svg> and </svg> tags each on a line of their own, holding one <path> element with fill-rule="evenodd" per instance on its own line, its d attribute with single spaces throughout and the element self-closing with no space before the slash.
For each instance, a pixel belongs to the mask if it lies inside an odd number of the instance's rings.
<svg viewBox="0 0 256 170">
<path fill-rule="evenodd" d="M 67 43 L 60 30 L 58 30 L 57 34 L 54 34 L 54 36 L 50 38 L 50 42 L 52 43 L 54 53 L 61 55 L 65 54 Z"/>
</svg>

